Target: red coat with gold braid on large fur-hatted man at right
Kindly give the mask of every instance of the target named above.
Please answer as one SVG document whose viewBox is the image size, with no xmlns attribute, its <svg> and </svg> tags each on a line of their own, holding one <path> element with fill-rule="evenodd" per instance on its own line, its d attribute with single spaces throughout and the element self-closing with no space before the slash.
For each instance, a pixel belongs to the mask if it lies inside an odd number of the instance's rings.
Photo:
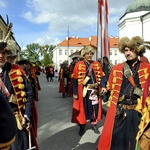
<svg viewBox="0 0 150 150">
<path fill-rule="evenodd" d="M 124 63 L 114 66 L 108 79 L 108 90 L 111 91 L 111 94 L 109 97 L 109 102 L 108 102 L 109 108 L 107 111 L 104 128 L 98 143 L 98 150 L 110 150 L 111 147 L 112 132 L 113 132 L 114 120 L 116 114 L 116 106 L 117 106 L 119 93 L 122 85 L 122 79 L 123 79 L 123 66 Z M 144 85 L 147 81 L 149 74 L 150 74 L 150 65 L 141 62 L 140 67 L 138 69 L 138 75 L 139 75 L 139 80 L 140 80 L 142 90 L 144 89 Z M 142 97 L 138 101 L 140 100 L 142 100 Z"/>
</svg>

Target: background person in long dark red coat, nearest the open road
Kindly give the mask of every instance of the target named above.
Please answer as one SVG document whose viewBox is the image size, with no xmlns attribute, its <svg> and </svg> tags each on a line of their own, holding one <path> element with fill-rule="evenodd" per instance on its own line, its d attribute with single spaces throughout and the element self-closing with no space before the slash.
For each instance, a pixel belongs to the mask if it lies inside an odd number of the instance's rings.
<svg viewBox="0 0 150 150">
<path fill-rule="evenodd" d="M 62 93 L 62 97 L 65 98 L 68 89 L 68 62 L 64 61 L 61 64 L 61 68 L 59 70 L 59 93 Z"/>
</svg>

